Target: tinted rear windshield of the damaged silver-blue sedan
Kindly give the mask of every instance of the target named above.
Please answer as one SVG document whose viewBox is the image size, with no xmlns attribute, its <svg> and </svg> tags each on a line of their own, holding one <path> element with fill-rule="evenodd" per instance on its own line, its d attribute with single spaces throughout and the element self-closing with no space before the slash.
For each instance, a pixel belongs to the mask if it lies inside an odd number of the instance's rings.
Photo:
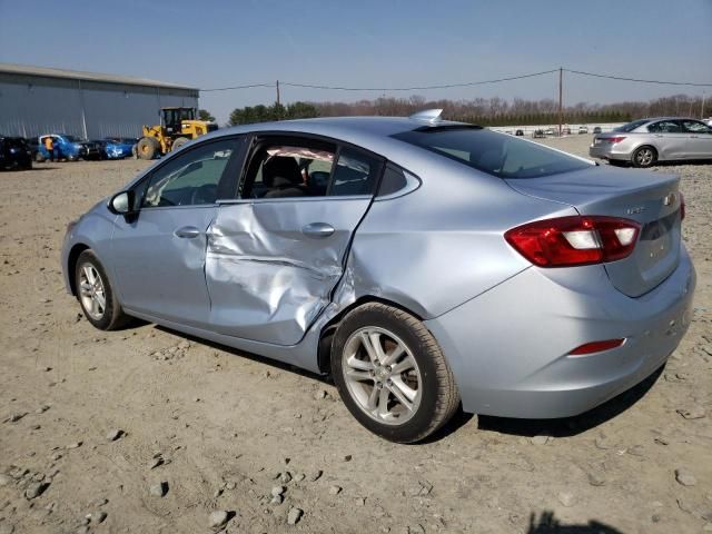
<svg viewBox="0 0 712 534">
<path fill-rule="evenodd" d="M 540 178 L 591 167 L 542 145 L 478 128 L 418 128 L 393 137 L 500 178 Z"/>
</svg>

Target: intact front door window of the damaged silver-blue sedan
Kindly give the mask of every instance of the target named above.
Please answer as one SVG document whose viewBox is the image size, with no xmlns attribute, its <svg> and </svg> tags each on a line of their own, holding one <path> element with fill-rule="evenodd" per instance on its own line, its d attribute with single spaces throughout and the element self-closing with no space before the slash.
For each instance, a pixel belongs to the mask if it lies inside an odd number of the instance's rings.
<svg viewBox="0 0 712 534">
<path fill-rule="evenodd" d="M 171 158 L 151 175 L 142 206 L 215 204 L 236 142 L 234 139 L 208 142 Z"/>
</svg>

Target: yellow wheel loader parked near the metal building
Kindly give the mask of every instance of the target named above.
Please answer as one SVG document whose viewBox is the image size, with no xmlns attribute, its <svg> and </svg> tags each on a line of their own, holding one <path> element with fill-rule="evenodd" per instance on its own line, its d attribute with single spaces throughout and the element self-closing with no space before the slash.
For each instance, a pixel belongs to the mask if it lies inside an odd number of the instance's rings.
<svg viewBox="0 0 712 534">
<path fill-rule="evenodd" d="M 218 129 L 215 122 L 196 119 L 195 108 L 161 108 L 161 123 L 144 126 L 137 154 L 141 159 L 154 159 L 177 150 L 191 139 Z"/>
</svg>

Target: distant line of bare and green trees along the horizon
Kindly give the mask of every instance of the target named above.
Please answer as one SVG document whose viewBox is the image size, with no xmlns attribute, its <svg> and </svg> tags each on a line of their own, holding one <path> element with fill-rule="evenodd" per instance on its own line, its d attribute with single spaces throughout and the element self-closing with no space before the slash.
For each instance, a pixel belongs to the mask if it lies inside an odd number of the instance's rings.
<svg viewBox="0 0 712 534">
<path fill-rule="evenodd" d="M 423 109 L 442 108 L 449 120 L 482 126 L 548 125 L 558 121 L 558 103 L 553 99 L 506 100 L 500 97 L 471 100 L 427 100 L 421 96 L 409 98 L 380 97 L 355 102 L 303 102 L 284 106 L 248 106 L 230 113 L 229 125 L 245 125 L 286 119 L 344 116 L 407 117 Z M 647 101 L 614 103 L 577 102 L 564 107 L 564 122 L 627 122 L 643 117 L 683 116 L 708 117 L 712 103 L 702 106 L 702 98 L 689 95 L 661 97 Z"/>
</svg>

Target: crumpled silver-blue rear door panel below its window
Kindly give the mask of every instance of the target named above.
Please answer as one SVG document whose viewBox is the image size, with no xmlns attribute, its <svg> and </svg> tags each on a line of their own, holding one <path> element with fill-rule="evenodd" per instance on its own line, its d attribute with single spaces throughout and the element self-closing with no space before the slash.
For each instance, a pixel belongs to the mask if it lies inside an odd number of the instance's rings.
<svg viewBox="0 0 712 534">
<path fill-rule="evenodd" d="M 294 345 L 329 303 L 370 197 L 239 200 L 208 229 L 211 328 Z"/>
</svg>

